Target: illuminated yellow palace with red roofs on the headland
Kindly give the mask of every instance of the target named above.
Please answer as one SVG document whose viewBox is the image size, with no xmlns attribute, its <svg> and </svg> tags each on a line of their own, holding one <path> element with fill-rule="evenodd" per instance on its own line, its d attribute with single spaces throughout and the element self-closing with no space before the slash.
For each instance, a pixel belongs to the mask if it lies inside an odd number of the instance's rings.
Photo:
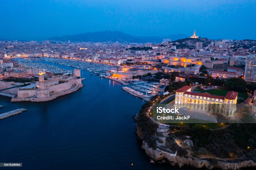
<svg viewBox="0 0 256 170">
<path fill-rule="evenodd" d="M 176 90 L 175 105 L 232 118 L 236 111 L 237 95 L 238 93 L 234 91 L 229 91 L 226 96 L 194 93 L 190 86 L 183 86 Z"/>
</svg>

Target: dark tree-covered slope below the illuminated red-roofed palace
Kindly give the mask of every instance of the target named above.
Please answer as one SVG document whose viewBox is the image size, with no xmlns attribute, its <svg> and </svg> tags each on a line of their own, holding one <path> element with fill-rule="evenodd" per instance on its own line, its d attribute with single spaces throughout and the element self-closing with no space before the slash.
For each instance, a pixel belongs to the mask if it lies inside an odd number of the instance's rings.
<svg viewBox="0 0 256 170">
<path fill-rule="evenodd" d="M 224 128 L 206 129 L 204 125 L 180 127 L 176 137 L 192 136 L 194 153 L 206 152 L 220 158 L 246 156 L 256 161 L 256 124 L 230 124 Z"/>
</svg>

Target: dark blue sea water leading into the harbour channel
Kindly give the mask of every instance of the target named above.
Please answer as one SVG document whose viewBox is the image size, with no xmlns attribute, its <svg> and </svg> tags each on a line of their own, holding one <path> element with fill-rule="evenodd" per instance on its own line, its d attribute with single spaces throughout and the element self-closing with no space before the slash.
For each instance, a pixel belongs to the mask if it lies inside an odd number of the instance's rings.
<svg viewBox="0 0 256 170">
<path fill-rule="evenodd" d="M 5 169 L 179 169 L 150 164 L 141 149 L 132 116 L 145 101 L 118 82 L 82 72 L 83 88 L 52 101 L 13 103 L 0 95 L 0 113 L 28 110 L 0 120 L 0 162 L 23 163 Z"/>
</svg>

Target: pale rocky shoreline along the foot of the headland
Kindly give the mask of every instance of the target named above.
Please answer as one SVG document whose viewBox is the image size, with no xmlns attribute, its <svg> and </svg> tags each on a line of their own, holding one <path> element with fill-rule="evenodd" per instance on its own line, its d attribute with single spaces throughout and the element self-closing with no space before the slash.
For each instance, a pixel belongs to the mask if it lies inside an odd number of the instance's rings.
<svg viewBox="0 0 256 170">
<path fill-rule="evenodd" d="M 228 163 L 228 162 L 220 162 L 215 161 L 214 163 L 207 161 L 207 160 L 197 160 L 185 158 L 182 156 L 171 156 L 168 153 L 164 153 L 162 151 L 153 149 L 148 147 L 148 144 L 143 140 L 143 132 L 136 126 L 136 133 L 137 137 L 143 141 L 142 149 L 145 150 L 145 153 L 148 157 L 150 157 L 150 163 L 168 163 L 170 166 L 178 166 L 179 168 L 183 166 L 190 166 L 193 168 L 207 168 L 207 169 L 223 169 L 223 170 L 235 170 L 239 168 L 246 168 L 246 167 L 255 167 L 256 163 L 252 160 L 249 161 L 242 161 L 238 163 Z"/>
</svg>

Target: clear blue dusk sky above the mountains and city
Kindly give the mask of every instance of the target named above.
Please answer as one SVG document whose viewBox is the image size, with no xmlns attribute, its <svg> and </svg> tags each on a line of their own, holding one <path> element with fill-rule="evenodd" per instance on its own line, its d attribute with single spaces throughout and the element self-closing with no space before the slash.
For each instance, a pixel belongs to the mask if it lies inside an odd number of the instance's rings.
<svg viewBox="0 0 256 170">
<path fill-rule="evenodd" d="M 134 36 L 172 34 L 211 39 L 256 39 L 255 0 L 1 0 L 0 39 L 122 31 Z"/>
</svg>

